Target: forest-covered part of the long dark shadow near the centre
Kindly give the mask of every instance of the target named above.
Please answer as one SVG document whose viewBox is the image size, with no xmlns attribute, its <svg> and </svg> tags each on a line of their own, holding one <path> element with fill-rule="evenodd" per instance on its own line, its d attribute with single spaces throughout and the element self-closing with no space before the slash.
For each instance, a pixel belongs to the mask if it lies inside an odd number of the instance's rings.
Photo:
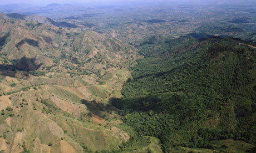
<svg viewBox="0 0 256 153">
<path fill-rule="evenodd" d="M 143 98 L 111 98 L 109 103 L 120 110 L 118 114 L 121 116 L 132 113 L 168 114 L 176 116 L 178 125 L 184 125 L 194 110 L 184 109 L 187 104 L 182 99 L 176 93 L 163 93 Z"/>
</svg>

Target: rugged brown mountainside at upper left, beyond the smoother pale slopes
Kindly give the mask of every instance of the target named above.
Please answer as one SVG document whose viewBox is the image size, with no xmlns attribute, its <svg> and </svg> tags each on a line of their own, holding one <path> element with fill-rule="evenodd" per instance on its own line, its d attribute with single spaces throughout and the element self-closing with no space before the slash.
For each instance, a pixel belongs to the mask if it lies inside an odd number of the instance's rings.
<svg viewBox="0 0 256 153">
<path fill-rule="evenodd" d="M 4 63 L 18 64 L 18 68 L 24 67 L 20 61 L 26 56 L 43 72 L 100 77 L 106 72 L 127 69 L 139 57 L 131 45 L 97 32 L 3 19 L 0 25 Z"/>
</svg>

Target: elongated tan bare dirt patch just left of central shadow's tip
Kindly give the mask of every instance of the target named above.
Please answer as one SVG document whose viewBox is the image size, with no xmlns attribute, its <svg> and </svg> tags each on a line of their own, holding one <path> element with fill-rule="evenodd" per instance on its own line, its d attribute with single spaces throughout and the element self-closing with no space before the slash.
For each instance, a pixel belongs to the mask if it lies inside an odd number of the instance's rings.
<svg viewBox="0 0 256 153">
<path fill-rule="evenodd" d="M 64 101 L 61 99 L 58 99 L 55 96 L 52 96 L 50 99 L 52 100 L 53 103 L 55 103 L 63 111 L 67 111 L 67 113 L 74 114 L 77 116 L 77 118 L 80 117 L 81 110 L 77 105 L 68 103 L 67 101 Z"/>
</svg>

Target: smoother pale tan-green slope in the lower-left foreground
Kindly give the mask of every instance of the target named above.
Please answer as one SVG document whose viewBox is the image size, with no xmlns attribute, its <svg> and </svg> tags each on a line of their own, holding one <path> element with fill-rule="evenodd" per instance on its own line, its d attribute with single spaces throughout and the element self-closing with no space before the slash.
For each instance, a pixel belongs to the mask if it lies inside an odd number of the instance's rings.
<svg viewBox="0 0 256 153">
<path fill-rule="evenodd" d="M 121 122 L 117 115 L 112 113 L 112 108 L 101 105 L 99 101 L 82 103 L 86 98 L 78 94 L 76 88 L 34 85 L 20 91 L 19 84 L 22 81 L 26 80 L 17 80 L 18 85 L 11 88 L 15 93 L 0 96 L 1 109 L 5 113 L 1 115 L 3 123 L 0 133 L 1 136 L 7 135 L 6 142 L 11 148 L 18 148 L 25 142 L 28 150 L 38 151 L 42 145 L 47 146 L 51 142 L 51 150 L 60 151 L 61 137 L 65 137 L 64 141 L 77 152 L 83 150 L 81 146 L 93 151 L 116 150 L 116 145 L 124 141 L 122 136 L 125 132 L 115 127 Z M 85 88 L 90 89 L 90 86 Z M 111 86 L 108 88 L 111 89 Z M 100 89 L 97 92 L 101 92 Z M 91 94 L 91 98 L 96 96 L 95 93 Z M 63 106 L 58 106 L 56 99 L 60 99 Z M 7 106 L 11 106 L 13 111 L 7 111 Z M 78 116 L 77 111 L 80 112 Z M 9 117 L 11 113 L 14 116 Z M 104 123 L 92 123 L 90 113 L 104 118 Z M 11 119 L 10 126 L 4 121 L 7 118 Z M 21 137 L 18 139 L 17 135 Z"/>
</svg>

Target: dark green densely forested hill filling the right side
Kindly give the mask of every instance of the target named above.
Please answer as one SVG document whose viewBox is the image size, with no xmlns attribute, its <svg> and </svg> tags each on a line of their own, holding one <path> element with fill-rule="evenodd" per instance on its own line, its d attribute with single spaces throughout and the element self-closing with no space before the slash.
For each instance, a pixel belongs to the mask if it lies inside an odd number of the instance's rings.
<svg viewBox="0 0 256 153">
<path fill-rule="evenodd" d="M 188 39 L 180 44 L 184 41 Z M 228 150 L 217 145 L 225 139 L 255 145 L 256 49 L 248 46 L 252 42 L 190 42 L 159 54 L 157 48 L 149 50 L 148 57 L 131 68 L 133 79 L 122 89 L 124 98 L 112 104 L 139 136 L 158 137 L 165 152 L 176 146 Z M 146 53 L 147 48 L 142 49 Z"/>
</svg>

